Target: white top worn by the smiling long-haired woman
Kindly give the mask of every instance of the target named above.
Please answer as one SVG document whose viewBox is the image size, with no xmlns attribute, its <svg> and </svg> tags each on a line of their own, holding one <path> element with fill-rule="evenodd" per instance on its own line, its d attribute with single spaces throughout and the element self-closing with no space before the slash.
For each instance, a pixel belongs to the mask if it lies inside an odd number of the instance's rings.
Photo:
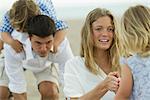
<svg viewBox="0 0 150 100">
<path fill-rule="evenodd" d="M 100 70 L 100 75 L 94 75 L 85 67 L 84 59 L 75 57 L 66 62 L 64 73 L 64 94 L 66 97 L 80 97 L 101 83 L 106 74 Z M 108 91 L 101 100 L 113 100 L 115 94 Z"/>
</svg>

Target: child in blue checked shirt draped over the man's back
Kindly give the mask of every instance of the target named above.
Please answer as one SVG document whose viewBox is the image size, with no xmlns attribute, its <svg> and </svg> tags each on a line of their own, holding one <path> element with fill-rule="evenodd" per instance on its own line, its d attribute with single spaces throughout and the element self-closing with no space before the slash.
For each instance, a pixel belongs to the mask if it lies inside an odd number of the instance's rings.
<svg viewBox="0 0 150 100">
<path fill-rule="evenodd" d="M 34 2 L 35 1 L 35 2 Z M 51 0 L 17 0 L 14 2 L 12 8 L 4 15 L 2 24 L 0 26 L 0 35 L 4 43 L 9 44 L 17 53 L 23 50 L 22 44 L 14 40 L 11 35 L 12 31 L 21 28 L 25 31 L 27 19 L 31 16 L 42 14 L 47 15 L 55 21 L 56 34 L 53 42 L 53 52 L 59 51 L 59 45 L 66 39 L 67 25 L 64 21 L 58 20 L 56 12 Z M 17 16 L 17 17 L 16 17 Z M 14 26 L 15 24 L 15 26 Z M 68 41 L 68 40 L 67 40 Z M 73 57 L 73 53 L 68 41 L 67 48 L 70 51 L 64 53 L 66 56 Z M 63 82 L 64 68 L 60 66 L 61 81 Z"/>
</svg>

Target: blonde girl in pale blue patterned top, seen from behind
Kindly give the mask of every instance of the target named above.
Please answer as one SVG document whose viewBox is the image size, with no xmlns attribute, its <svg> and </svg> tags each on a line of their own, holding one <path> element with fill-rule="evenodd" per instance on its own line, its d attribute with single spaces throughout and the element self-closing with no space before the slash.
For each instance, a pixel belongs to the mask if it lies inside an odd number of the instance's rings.
<svg viewBox="0 0 150 100">
<path fill-rule="evenodd" d="M 118 36 L 121 54 L 125 58 L 115 100 L 149 100 L 150 8 L 143 5 L 130 7 L 124 13 L 121 25 L 122 32 Z"/>
</svg>

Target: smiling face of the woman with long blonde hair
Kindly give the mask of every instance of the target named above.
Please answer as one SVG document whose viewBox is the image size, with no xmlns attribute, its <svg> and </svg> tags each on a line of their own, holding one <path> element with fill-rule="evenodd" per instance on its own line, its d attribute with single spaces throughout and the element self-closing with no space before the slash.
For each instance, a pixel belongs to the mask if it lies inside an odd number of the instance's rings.
<svg viewBox="0 0 150 100">
<path fill-rule="evenodd" d="M 107 50 L 113 41 L 114 27 L 109 16 L 99 17 L 92 23 L 94 47 Z"/>
</svg>

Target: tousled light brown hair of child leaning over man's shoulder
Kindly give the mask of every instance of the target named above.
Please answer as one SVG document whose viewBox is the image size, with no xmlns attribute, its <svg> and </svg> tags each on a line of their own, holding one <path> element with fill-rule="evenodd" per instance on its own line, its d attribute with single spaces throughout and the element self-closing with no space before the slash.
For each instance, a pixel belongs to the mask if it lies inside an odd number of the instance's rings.
<svg viewBox="0 0 150 100">
<path fill-rule="evenodd" d="M 33 0 L 17 0 L 9 11 L 11 25 L 23 32 L 26 32 L 27 20 L 38 14 L 40 14 L 39 7 Z"/>
</svg>

